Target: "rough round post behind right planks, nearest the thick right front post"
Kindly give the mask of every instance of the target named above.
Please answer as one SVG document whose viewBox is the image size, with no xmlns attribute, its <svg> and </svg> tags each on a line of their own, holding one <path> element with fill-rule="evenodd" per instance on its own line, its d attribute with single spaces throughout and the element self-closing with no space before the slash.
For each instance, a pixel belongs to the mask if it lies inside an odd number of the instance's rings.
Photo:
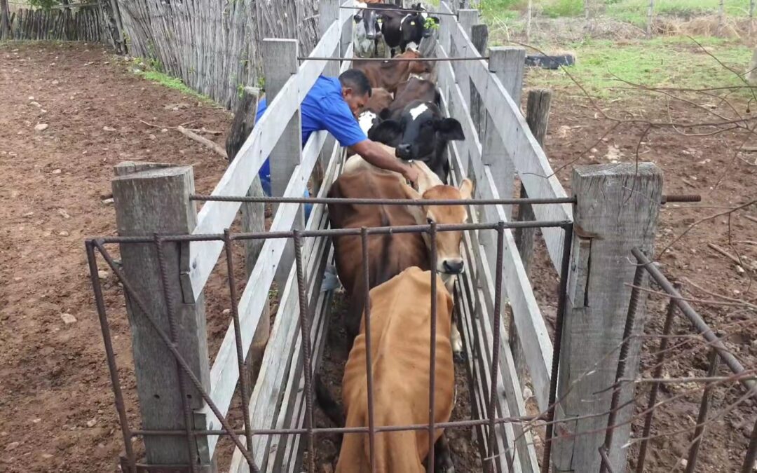
<svg viewBox="0 0 757 473">
<path fill-rule="evenodd" d="M 547 136 L 547 123 L 549 122 L 550 117 L 551 101 L 552 91 L 548 89 L 534 89 L 528 91 L 525 120 L 528 123 L 528 128 L 531 129 L 531 133 L 534 134 L 534 138 L 536 138 L 536 141 L 542 148 L 544 148 L 544 138 Z M 526 192 L 525 186 L 522 182 L 520 183 L 520 197 L 528 198 L 528 192 Z M 519 206 L 517 221 L 526 222 L 535 219 L 534 209 L 530 204 L 521 204 Z M 523 269 L 525 269 L 525 274 L 528 276 L 528 279 L 531 279 L 531 258 L 534 256 L 535 236 L 536 229 L 516 229 L 514 235 L 516 247 L 518 247 L 518 253 L 523 262 Z M 512 317 L 510 318 L 507 335 L 510 341 L 510 349 L 512 350 L 512 360 L 513 363 L 515 363 L 518 378 L 519 380 L 522 380 L 522 375 L 525 373 L 525 355 L 523 353 L 523 347 L 520 344 L 515 320 L 512 319 Z"/>
</svg>

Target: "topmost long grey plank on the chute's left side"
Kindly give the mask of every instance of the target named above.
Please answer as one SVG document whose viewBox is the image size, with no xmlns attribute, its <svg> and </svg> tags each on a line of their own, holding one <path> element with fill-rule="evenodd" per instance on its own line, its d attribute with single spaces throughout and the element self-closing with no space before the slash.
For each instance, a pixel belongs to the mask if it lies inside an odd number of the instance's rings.
<svg viewBox="0 0 757 473">
<path fill-rule="evenodd" d="M 310 56 L 332 54 L 339 45 L 340 36 L 341 30 L 335 23 L 322 37 Z M 298 74 L 292 76 L 276 98 L 268 104 L 266 114 L 255 124 L 234 162 L 229 165 L 226 173 L 223 173 L 216 188 L 213 189 L 213 195 L 244 195 L 247 192 L 263 161 L 279 142 L 279 136 L 286 129 L 288 120 L 298 110 L 303 98 L 322 73 L 323 67 L 325 67 L 323 61 L 304 61 L 301 64 Z M 292 197 L 301 197 L 303 192 L 304 188 Z M 194 234 L 223 232 L 223 229 L 231 226 L 239 206 L 239 202 L 205 203 L 198 213 L 198 225 Z M 192 294 L 195 297 L 204 288 L 222 250 L 223 242 L 220 241 L 193 241 L 189 245 L 188 273 L 192 282 Z"/>
</svg>

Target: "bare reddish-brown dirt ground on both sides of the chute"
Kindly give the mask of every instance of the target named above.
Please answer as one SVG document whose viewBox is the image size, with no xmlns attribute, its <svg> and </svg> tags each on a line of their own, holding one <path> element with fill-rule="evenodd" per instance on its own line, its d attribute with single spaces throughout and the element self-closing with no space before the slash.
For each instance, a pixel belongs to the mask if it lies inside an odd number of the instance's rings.
<svg viewBox="0 0 757 473">
<path fill-rule="evenodd" d="M 653 160 L 665 171 L 665 193 L 702 194 L 702 204 L 664 207 L 658 252 L 702 216 L 757 198 L 757 166 L 749 164 L 755 163 L 757 155 L 742 153 L 734 157 L 733 153 L 734 143 L 743 135 L 693 138 L 669 128 L 653 129 L 639 145 L 642 129 L 621 126 L 600 141 L 610 124 L 597 119 L 590 104 L 575 95 L 556 91 L 546 145 L 553 167 L 565 166 L 559 176 L 566 188 L 570 185 L 571 166 L 579 154 L 582 157 L 575 162 L 605 163 L 613 159 L 634 160 L 638 148 L 640 159 Z M 198 104 L 196 98 L 133 76 L 99 47 L 69 44 L 0 46 L 0 104 L 0 199 L 4 204 L 0 210 L 0 471 L 114 471 L 123 445 L 83 240 L 93 235 L 114 235 L 114 208 L 102 202 L 110 191 L 114 164 L 122 160 L 193 164 L 197 190 L 208 193 L 226 167 L 220 157 L 178 132 L 161 132 L 139 120 L 161 126 L 192 120 L 193 127 L 225 131 L 231 116 L 212 105 Z M 187 107 L 167 108 L 168 104 Z M 666 120 L 661 105 L 656 98 L 601 104 L 608 113 L 628 110 L 653 120 Z M 742 113 L 744 108 L 740 108 Z M 689 105 L 674 105 L 673 113 L 681 120 L 709 120 L 705 111 Z M 48 127 L 36 131 L 35 126 L 42 123 Z M 223 143 L 223 136 L 213 139 Z M 747 143 L 755 145 L 753 139 Z M 731 254 L 757 260 L 757 222 L 745 215 L 757 216 L 757 209 L 750 207 L 730 219 L 721 216 L 696 226 L 663 255 L 662 269 L 683 282 L 687 294 L 693 297 L 715 298 L 693 286 L 696 284 L 707 291 L 755 303 L 757 297 L 751 285 L 754 273 L 750 269 L 737 272 L 734 263 L 707 246 L 718 244 Z M 123 294 L 113 275 L 106 272 L 105 295 L 113 321 L 120 377 L 133 402 Z M 218 282 L 211 282 L 209 290 L 218 294 L 208 296 L 211 353 L 228 324 L 228 316 L 221 314 L 225 305 L 219 295 L 223 271 L 219 277 Z M 550 323 L 556 307 L 555 282 L 544 257 L 537 259 L 534 287 Z M 728 335 L 727 345 L 741 363 L 755 366 L 754 314 L 734 306 L 698 308 L 715 330 Z M 647 331 L 659 333 L 664 303 L 653 298 L 649 312 Z M 64 314 L 73 316 L 76 322 L 67 324 L 64 319 L 70 317 Z M 673 333 L 684 335 L 691 331 L 679 317 Z M 658 342 L 653 338 L 645 345 L 645 367 L 652 364 L 649 353 Z M 701 375 L 706 369 L 705 351 L 684 353 L 681 348 L 675 353 L 684 356 L 666 364 L 665 375 Z M 721 369 L 720 374 L 725 373 Z M 683 390 L 684 387 L 671 387 L 662 391 L 661 398 L 673 397 Z M 640 405 L 646 403 L 644 393 L 646 388 L 637 391 L 642 394 Z M 711 413 L 721 412 L 741 395 L 737 389 L 719 387 Z M 467 415 L 466 396 L 458 400 L 463 410 L 456 416 Z M 693 394 L 666 405 L 656 415 L 653 434 L 682 426 L 691 429 L 698 404 L 699 395 Z M 138 425 L 133 406 L 129 417 L 133 425 Z M 709 426 L 698 471 L 736 470 L 755 418 L 754 404 L 741 403 Z M 671 470 L 678 456 L 685 454 L 687 435 L 653 440 L 646 470 Z M 473 450 L 463 440 L 453 439 L 456 456 L 466 448 Z M 633 464 L 635 450 L 631 451 Z M 326 458 L 334 454 L 325 453 Z"/>
</svg>

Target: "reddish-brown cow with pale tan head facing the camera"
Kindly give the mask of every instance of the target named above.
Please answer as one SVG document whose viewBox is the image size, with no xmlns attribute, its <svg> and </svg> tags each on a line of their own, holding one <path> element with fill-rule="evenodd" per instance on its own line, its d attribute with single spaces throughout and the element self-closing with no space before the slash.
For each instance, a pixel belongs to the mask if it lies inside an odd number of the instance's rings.
<svg viewBox="0 0 757 473">
<path fill-rule="evenodd" d="M 359 163 L 356 165 L 356 163 Z M 420 171 L 419 191 L 405 184 L 397 173 L 379 170 L 354 156 L 345 165 L 346 172 L 339 176 L 329 189 L 332 198 L 385 198 L 385 199 L 469 199 L 472 182 L 465 179 L 460 188 L 443 185 L 435 173 L 424 163 L 415 161 L 413 166 Z M 459 224 L 466 221 L 468 213 L 463 205 L 449 206 L 399 206 L 399 205 L 353 205 L 329 204 L 332 228 L 360 229 L 362 227 Z M 460 256 L 460 241 L 463 232 L 439 232 L 436 238 L 437 270 L 451 287 L 456 275 L 463 272 Z M 394 233 L 371 235 L 368 238 L 369 289 L 386 282 L 410 266 L 431 269 L 428 253 L 428 235 L 419 233 Z M 357 335 L 360 315 L 365 301 L 363 278 L 363 249 L 359 236 L 334 238 L 337 274 L 347 292 L 349 303 L 344 314 L 344 325 L 349 340 Z M 453 349 L 462 352 L 462 341 L 453 327 Z"/>
</svg>

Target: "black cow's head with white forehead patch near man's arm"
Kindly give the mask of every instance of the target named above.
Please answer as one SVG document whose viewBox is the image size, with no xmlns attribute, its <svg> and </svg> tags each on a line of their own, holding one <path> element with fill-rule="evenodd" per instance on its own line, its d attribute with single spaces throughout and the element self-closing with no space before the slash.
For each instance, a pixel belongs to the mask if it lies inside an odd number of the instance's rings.
<svg viewBox="0 0 757 473">
<path fill-rule="evenodd" d="M 368 117 L 365 120 L 367 125 Z M 450 173 L 444 153 L 447 142 L 465 139 L 459 121 L 442 117 L 433 102 L 419 100 L 407 104 L 397 118 L 378 124 L 373 120 L 375 117 L 371 117 L 368 138 L 396 148 L 400 159 L 423 161 L 442 182 L 447 182 Z"/>
</svg>

